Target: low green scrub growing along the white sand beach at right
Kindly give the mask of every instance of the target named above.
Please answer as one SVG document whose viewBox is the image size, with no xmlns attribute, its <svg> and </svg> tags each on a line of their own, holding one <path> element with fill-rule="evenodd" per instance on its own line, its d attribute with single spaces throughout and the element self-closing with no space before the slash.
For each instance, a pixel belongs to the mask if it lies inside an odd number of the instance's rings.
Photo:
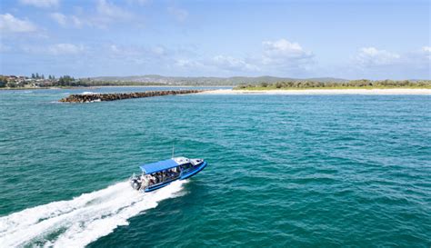
<svg viewBox="0 0 431 248">
<path fill-rule="evenodd" d="M 273 84 L 240 84 L 236 90 L 431 88 L 431 80 L 351 80 L 346 82 L 285 81 Z"/>
</svg>

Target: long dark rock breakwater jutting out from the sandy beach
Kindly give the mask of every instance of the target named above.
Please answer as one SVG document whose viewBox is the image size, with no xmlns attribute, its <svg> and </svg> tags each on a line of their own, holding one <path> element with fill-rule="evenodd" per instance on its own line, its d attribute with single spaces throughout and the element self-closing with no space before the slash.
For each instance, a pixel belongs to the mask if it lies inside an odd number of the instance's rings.
<svg viewBox="0 0 431 248">
<path fill-rule="evenodd" d="M 92 103 L 124 100 L 129 98 L 142 98 L 152 96 L 162 96 L 169 94 L 195 94 L 204 92 L 204 90 L 173 90 L 173 91 L 147 91 L 135 93 L 108 93 L 108 94 L 71 94 L 59 102 L 62 103 Z"/>
</svg>

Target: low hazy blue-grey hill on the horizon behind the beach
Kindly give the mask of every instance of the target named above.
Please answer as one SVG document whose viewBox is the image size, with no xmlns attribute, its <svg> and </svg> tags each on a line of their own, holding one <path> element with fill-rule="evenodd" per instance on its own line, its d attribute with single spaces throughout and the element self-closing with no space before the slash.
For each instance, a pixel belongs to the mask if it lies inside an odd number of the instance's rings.
<svg viewBox="0 0 431 248">
<path fill-rule="evenodd" d="M 290 78 L 276 76 L 232 76 L 232 77 L 205 77 L 205 76 L 163 76 L 158 74 L 131 75 L 131 76 L 97 76 L 91 77 L 92 81 L 106 81 L 117 83 L 142 83 L 142 84 L 166 84 L 166 85 L 238 85 L 238 84 L 260 84 L 260 83 L 276 83 L 282 81 L 317 81 L 317 82 L 336 82 L 343 83 L 348 80 L 333 77 L 318 77 L 318 78 Z"/>
</svg>

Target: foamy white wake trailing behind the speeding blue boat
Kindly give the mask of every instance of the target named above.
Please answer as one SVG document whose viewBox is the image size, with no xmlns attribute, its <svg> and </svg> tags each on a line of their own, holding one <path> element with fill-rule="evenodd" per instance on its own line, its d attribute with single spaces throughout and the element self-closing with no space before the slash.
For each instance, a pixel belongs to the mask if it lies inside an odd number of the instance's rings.
<svg viewBox="0 0 431 248">
<path fill-rule="evenodd" d="M 127 219 L 182 195 L 186 181 L 175 181 L 152 193 L 139 193 L 128 182 L 84 193 L 69 201 L 47 203 L 0 217 L 4 247 L 37 243 L 46 247 L 84 247 L 112 233 Z"/>
</svg>

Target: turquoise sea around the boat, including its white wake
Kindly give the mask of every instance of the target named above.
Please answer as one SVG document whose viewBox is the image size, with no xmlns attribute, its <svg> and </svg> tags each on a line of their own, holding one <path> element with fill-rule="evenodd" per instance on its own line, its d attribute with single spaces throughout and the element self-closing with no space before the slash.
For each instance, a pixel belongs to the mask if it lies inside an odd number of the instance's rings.
<svg viewBox="0 0 431 248">
<path fill-rule="evenodd" d="M 146 89 L 0 92 L 0 246 L 430 247 L 430 96 L 55 103 Z M 209 165 L 133 192 L 173 142 Z"/>
</svg>

